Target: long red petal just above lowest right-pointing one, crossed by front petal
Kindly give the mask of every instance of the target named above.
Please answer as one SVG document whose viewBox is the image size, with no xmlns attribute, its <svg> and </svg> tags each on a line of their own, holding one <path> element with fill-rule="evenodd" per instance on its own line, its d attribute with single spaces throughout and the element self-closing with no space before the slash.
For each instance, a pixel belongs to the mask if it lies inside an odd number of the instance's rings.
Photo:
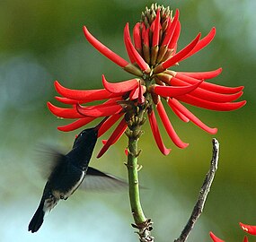
<svg viewBox="0 0 256 242">
<path fill-rule="evenodd" d="M 173 86 L 184 86 L 187 85 L 187 82 L 183 82 L 180 79 L 176 77 L 172 77 L 171 83 Z M 234 101 L 236 99 L 239 99 L 243 95 L 243 91 L 234 93 L 234 94 L 222 94 L 222 93 L 216 93 L 213 91 L 207 91 L 202 88 L 198 88 L 194 91 L 190 92 L 190 95 L 193 97 L 197 97 L 199 99 L 205 99 L 208 101 L 214 101 L 214 102 L 230 102 Z"/>
</svg>

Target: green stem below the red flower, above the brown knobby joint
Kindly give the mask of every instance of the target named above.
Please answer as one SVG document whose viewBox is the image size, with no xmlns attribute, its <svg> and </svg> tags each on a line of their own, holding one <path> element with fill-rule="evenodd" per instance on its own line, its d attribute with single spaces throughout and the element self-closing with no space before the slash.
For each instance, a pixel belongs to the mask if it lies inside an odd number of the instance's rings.
<svg viewBox="0 0 256 242">
<path fill-rule="evenodd" d="M 128 136 L 128 186 L 129 186 L 129 200 L 131 212 L 137 226 L 146 222 L 146 217 L 142 210 L 139 199 L 139 186 L 138 186 L 138 164 L 137 164 L 137 143 L 138 137 L 134 135 Z"/>
</svg>

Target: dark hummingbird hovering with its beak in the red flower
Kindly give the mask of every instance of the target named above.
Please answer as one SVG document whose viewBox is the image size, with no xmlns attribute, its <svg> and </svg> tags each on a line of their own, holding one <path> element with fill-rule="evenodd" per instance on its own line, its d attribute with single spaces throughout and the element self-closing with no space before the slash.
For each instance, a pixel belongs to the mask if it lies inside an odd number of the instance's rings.
<svg viewBox="0 0 256 242">
<path fill-rule="evenodd" d="M 97 142 L 98 130 L 102 123 L 93 128 L 84 129 L 75 138 L 73 148 L 66 155 L 54 152 L 53 165 L 48 181 L 44 187 L 40 204 L 29 224 L 29 231 L 38 231 L 43 223 L 44 216 L 59 202 L 66 200 L 83 183 L 84 188 L 109 189 L 114 186 L 127 186 L 127 183 L 89 167 L 93 149 Z M 84 179 L 85 177 L 85 179 Z M 88 181 L 85 182 L 88 177 Z M 93 178 L 96 177 L 96 178 Z M 94 184 L 93 184 L 94 182 Z"/>
</svg>

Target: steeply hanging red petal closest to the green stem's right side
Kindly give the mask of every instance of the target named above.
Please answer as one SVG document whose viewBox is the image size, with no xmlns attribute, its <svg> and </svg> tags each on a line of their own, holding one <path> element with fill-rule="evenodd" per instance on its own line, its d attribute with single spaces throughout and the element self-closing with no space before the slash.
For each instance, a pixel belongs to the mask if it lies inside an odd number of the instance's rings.
<svg viewBox="0 0 256 242">
<path fill-rule="evenodd" d="M 161 138 L 161 134 L 158 129 L 158 125 L 156 122 L 156 118 L 154 116 L 154 110 L 151 110 L 151 112 L 147 112 L 148 118 L 149 118 L 149 123 L 151 126 L 151 130 L 154 136 L 154 141 L 157 144 L 159 150 L 163 153 L 163 155 L 168 155 L 171 151 L 171 149 L 167 149 L 164 144 L 163 140 Z"/>
</svg>

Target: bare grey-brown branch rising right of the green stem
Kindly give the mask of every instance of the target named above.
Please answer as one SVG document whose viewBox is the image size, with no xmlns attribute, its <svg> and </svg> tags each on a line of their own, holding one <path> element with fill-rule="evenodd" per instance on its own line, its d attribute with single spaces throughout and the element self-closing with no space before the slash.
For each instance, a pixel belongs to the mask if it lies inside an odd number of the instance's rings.
<svg viewBox="0 0 256 242">
<path fill-rule="evenodd" d="M 195 223 L 197 222 L 197 220 L 199 220 L 199 217 L 203 212 L 204 205 L 207 200 L 207 194 L 210 191 L 210 187 L 215 177 L 217 164 L 218 164 L 219 143 L 215 138 L 212 140 L 212 143 L 213 143 L 213 154 L 212 154 L 210 169 L 208 170 L 207 176 L 200 189 L 198 201 L 194 206 L 190 219 L 188 220 L 185 228 L 181 232 L 181 236 L 175 239 L 174 242 L 184 242 L 187 240 L 187 238 L 190 235 L 190 231 L 193 229 Z"/>
</svg>

